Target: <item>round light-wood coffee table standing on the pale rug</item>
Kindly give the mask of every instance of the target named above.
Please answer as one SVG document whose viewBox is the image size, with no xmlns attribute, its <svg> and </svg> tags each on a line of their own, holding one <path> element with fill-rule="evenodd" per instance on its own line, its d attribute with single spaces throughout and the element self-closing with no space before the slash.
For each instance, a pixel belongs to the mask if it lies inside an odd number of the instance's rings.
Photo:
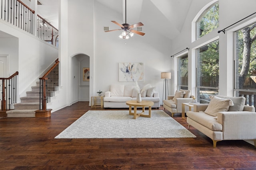
<svg viewBox="0 0 256 170">
<path fill-rule="evenodd" d="M 126 102 L 126 105 L 129 106 L 129 115 L 134 115 L 134 119 L 137 117 L 151 117 L 151 106 L 154 105 L 154 102 L 142 100 L 141 102 L 137 102 L 136 100 L 129 100 Z M 134 107 L 134 111 L 132 112 L 132 106 Z M 137 113 L 137 107 L 142 107 L 142 112 Z M 148 115 L 144 115 L 145 107 L 148 107 Z"/>
</svg>

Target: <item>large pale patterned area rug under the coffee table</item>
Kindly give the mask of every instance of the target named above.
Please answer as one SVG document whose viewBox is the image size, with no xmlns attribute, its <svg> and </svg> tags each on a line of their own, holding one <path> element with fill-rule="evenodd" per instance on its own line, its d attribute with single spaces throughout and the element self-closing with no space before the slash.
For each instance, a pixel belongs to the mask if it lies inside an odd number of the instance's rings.
<svg viewBox="0 0 256 170">
<path fill-rule="evenodd" d="M 137 111 L 138 113 L 141 110 Z M 148 111 L 145 111 L 148 114 Z M 129 111 L 87 111 L 55 139 L 196 137 L 162 110 L 133 119 Z"/>
</svg>

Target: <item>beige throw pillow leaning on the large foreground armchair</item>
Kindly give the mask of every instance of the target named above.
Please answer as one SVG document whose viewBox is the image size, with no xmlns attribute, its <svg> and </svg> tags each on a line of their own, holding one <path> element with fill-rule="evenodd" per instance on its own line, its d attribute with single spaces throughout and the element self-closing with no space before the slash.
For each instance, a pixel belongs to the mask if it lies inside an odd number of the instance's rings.
<svg viewBox="0 0 256 170">
<path fill-rule="evenodd" d="M 219 111 L 228 111 L 229 106 L 234 106 L 231 99 L 222 99 L 217 96 L 210 96 L 210 103 L 204 113 L 216 117 Z"/>
</svg>

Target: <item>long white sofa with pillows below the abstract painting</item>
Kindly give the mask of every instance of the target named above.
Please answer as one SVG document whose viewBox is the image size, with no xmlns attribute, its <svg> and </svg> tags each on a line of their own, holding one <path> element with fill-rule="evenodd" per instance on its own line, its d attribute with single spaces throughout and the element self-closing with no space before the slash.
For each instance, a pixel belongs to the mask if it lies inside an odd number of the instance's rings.
<svg viewBox="0 0 256 170">
<path fill-rule="evenodd" d="M 110 91 L 105 92 L 104 108 L 128 108 L 126 101 L 136 100 L 137 94 L 136 86 L 113 84 L 110 86 Z M 143 97 L 144 94 L 146 94 L 145 97 Z M 160 107 L 159 93 L 154 91 L 154 87 L 146 89 L 146 92 L 141 92 L 141 96 L 142 100 L 154 102 L 152 108 Z"/>
</svg>

